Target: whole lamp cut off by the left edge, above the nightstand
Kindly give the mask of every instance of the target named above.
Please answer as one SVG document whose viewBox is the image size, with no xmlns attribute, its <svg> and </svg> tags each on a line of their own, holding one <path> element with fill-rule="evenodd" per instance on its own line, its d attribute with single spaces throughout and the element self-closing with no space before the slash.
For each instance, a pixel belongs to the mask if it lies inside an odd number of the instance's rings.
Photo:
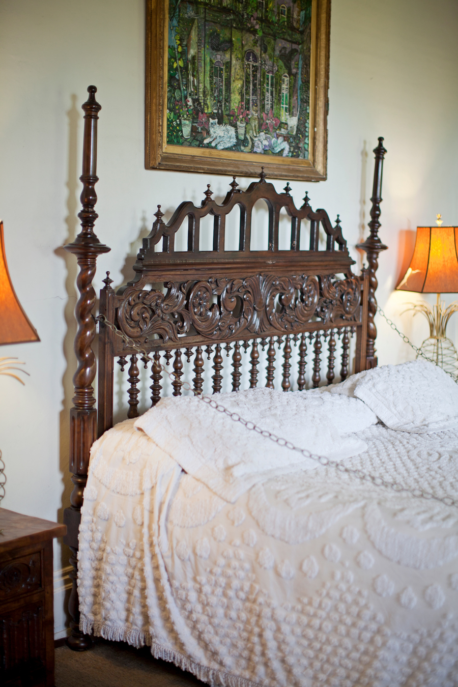
<svg viewBox="0 0 458 687">
<path fill-rule="evenodd" d="M 40 341 L 30 319 L 25 315 L 11 283 L 8 264 L 6 262 L 5 242 L 3 240 L 3 222 L 0 220 L 0 346 L 5 343 L 25 343 L 25 341 Z M 15 365 L 23 365 L 15 358 L 0 357 L 0 374 L 8 374 L 23 384 L 22 379 L 12 370 L 25 372 Z M 25 374 L 28 374 L 25 372 Z M 1 460 L 0 451 L 0 501 L 5 495 L 5 464 Z"/>
</svg>

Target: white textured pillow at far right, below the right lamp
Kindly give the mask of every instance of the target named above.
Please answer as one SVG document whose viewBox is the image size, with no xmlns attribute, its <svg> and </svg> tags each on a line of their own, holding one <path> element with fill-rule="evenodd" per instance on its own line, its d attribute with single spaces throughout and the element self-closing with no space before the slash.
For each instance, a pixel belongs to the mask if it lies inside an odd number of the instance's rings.
<svg viewBox="0 0 458 687">
<path fill-rule="evenodd" d="M 421 434 L 458 426 L 458 384 L 434 363 L 381 365 L 333 393 L 360 398 L 390 429 Z"/>
</svg>

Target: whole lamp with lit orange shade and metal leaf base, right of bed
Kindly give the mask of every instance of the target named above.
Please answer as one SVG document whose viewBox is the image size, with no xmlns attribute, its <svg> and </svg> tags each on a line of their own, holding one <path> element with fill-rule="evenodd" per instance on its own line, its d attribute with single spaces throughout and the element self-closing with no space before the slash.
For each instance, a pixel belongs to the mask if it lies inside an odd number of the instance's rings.
<svg viewBox="0 0 458 687">
<path fill-rule="evenodd" d="M 428 319 L 429 337 L 420 347 L 422 355 L 456 378 L 458 354 L 453 342 L 446 337 L 446 326 L 458 311 L 458 301 L 446 308 L 440 295 L 458 292 L 458 227 L 442 227 L 440 214 L 436 223 L 437 227 L 417 227 L 411 262 L 396 289 L 437 293 L 435 306 L 417 303 L 409 310 L 423 313 Z"/>
</svg>

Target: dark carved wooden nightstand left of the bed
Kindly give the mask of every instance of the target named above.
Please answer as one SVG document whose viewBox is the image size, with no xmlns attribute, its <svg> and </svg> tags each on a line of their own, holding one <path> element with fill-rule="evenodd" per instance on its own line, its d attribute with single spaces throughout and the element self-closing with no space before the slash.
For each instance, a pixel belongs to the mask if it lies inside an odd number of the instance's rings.
<svg viewBox="0 0 458 687">
<path fill-rule="evenodd" d="M 0 684 L 54 687 L 52 540 L 67 528 L 0 508 Z"/>
</svg>

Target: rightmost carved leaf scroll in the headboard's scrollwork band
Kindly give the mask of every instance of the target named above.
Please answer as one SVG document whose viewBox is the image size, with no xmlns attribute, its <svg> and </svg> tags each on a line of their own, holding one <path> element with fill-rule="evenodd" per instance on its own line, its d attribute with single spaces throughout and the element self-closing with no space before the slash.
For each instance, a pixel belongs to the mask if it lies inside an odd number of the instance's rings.
<svg viewBox="0 0 458 687">
<path fill-rule="evenodd" d="M 338 279 L 334 275 L 320 277 L 320 299 L 316 315 L 326 324 L 336 319 L 354 319 L 360 304 L 359 280 L 355 277 Z"/>
</svg>

